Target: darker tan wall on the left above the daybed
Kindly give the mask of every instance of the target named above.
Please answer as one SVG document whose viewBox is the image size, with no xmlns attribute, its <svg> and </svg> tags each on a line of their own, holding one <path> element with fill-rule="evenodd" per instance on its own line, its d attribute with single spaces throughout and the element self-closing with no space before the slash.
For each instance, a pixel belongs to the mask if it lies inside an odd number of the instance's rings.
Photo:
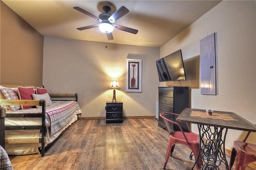
<svg viewBox="0 0 256 170">
<path fill-rule="evenodd" d="M 44 37 L 0 3 L 0 83 L 42 85 Z"/>
</svg>

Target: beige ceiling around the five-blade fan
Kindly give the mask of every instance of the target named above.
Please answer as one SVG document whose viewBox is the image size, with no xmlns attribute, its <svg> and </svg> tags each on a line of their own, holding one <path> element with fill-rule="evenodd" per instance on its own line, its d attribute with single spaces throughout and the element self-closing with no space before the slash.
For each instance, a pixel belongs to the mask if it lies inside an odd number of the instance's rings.
<svg viewBox="0 0 256 170">
<path fill-rule="evenodd" d="M 174 36 L 216 6 L 217 0 L 116 0 L 109 1 L 116 9 L 122 5 L 130 12 L 114 24 L 134 28 L 138 34 L 120 30 L 112 32 L 114 40 L 98 28 L 79 31 L 76 28 L 99 24 L 99 21 L 74 10 L 78 6 L 95 16 L 100 13 L 98 0 L 3 0 L 14 12 L 43 36 L 74 40 L 161 47 Z"/>
</svg>

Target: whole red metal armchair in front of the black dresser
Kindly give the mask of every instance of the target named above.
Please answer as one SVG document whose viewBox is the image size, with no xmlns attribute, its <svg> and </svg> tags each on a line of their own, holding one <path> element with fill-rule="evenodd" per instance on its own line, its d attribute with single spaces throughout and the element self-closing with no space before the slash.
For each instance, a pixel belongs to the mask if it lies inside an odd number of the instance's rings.
<svg viewBox="0 0 256 170">
<path fill-rule="evenodd" d="M 164 167 L 163 167 L 164 169 L 165 169 L 166 164 L 168 162 L 169 156 L 172 156 L 172 152 L 174 150 L 175 144 L 183 144 L 185 146 L 188 146 L 192 150 L 192 152 L 194 153 L 195 158 L 198 155 L 198 152 L 199 152 L 199 149 L 200 149 L 199 136 L 198 136 L 198 134 L 194 134 L 194 133 L 191 132 L 188 123 L 186 123 L 186 124 L 188 126 L 189 132 L 184 132 L 179 123 L 174 122 L 174 121 L 166 118 L 166 115 L 168 115 L 168 114 L 179 116 L 176 113 L 169 113 L 169 112 L 160 113 L 160 117 L 162 117 L 162 119 L 164 120 L 164 124 L 166 125 L 166 128 L 169 132 L 169 142 L 168 142 L 166 157 L 165 157 L 165 160 L 164 160 Z M 177 125 L 180 128 L 180 131 L 173 131 L 170 128 L 169 122 Z M 197 161 L 197 164 L 196 164 L 197 170 L 201 168 L 201 165 L 202 165 L 202 156 L 199 155 L 199 158 L 198 158 L 198 161 Z"/>
</svg>

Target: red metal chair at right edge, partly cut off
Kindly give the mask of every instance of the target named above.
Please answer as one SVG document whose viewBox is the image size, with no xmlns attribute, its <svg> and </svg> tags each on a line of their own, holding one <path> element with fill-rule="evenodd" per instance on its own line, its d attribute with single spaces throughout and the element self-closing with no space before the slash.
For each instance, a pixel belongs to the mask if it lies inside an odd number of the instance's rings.
<svg viewBox="0 0 256 170">
<path fill-rule="evenodd" d="M 247 133 L 244 140 L 241 141 L 234 141 L 234 148 L 232 149 L 230 162 L 228 169 L 231 170 L 235 158 L 237 156 L 236 161 L 236 170 L 245 170 L 245 167 L 252 163 L 256 162 L 256 145 L 246 143 L 246 139 L 248 138 L 250 132 Z"/>
</svg>

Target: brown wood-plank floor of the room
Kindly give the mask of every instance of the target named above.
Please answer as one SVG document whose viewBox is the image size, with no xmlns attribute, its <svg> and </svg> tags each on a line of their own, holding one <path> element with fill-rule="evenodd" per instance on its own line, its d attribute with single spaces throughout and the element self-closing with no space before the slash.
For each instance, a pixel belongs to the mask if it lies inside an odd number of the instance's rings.
<svg viewBox="0 0 256 170">
<path fill-rule="evenodd" d="M 167 144 L 168 132 L 155 119 L 110 124 L 104 119 L 78 120 L 46 147 L 44 157 L 10 156 L 10 160 L 14 170 L 162 170 Z M 166 169 L 190 170 L 194 163 L 190 152 L 176 145 Z"/>
</svg>

